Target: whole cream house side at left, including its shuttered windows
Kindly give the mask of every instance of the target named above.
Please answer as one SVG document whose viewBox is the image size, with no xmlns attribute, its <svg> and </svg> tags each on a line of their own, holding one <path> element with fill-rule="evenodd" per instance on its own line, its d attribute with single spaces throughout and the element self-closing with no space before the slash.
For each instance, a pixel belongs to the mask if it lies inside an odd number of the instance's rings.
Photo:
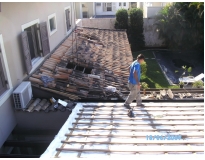
<svg viewBox="0 0 205 160">
<path fill-rule="evenodd" d="M 75 3 L 0 5 L 0 147 L 16 126 L 13 90 L 75 27 Z"/>
</svg>

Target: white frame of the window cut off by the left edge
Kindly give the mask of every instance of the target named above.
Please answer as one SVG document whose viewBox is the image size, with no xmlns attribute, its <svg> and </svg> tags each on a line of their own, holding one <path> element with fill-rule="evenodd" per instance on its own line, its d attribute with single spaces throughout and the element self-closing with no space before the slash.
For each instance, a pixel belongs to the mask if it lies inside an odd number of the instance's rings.
<svg viewBox="0 0 205 160">
<path fill-rule="evenodd" d="M 0 107 L 2 104 L 11 96 L 13 92 L 13 85 L 11 82 L 11 77 L 10 77 L 10 72 L 9 72 L 9 67 L 8 67 L 8 61 L 6 58 L 6 52 L 4 48 L 4 41 L 3 41 L 3 36 L 0 34 L 0 56 L 2 59 L 2 65 L 3 65 L 3 71 L 4 71 L 4 76 L 8 81 L 7 84 L 7 90 L 0 96 Z"/>
</svg>

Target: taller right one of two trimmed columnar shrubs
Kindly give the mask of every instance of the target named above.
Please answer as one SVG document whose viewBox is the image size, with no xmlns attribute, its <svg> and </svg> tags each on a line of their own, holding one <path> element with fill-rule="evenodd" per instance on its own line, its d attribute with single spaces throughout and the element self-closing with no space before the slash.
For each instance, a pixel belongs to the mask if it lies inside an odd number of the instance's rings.
<svg viewBox="0 0 205 160">
<path fill-rule="evenodd" d="M 140 50 L 144 47 L 144 34 L 143 34 L 143 11 L 140 8 L 130 9 L 130 24 L 129 36 L 130 43 L 132 44 L 132 51 Z"/>
</svg>

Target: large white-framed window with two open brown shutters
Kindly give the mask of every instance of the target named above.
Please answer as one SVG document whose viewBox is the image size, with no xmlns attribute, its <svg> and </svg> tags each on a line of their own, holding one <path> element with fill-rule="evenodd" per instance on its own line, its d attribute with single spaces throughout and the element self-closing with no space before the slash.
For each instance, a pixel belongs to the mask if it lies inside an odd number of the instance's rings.
<svg viewBox="0 0 205 160">
<path fill-rule="evenodd" d="M 22 25 L 21 42 L 26 71 L 29 74 L 50 53 L 47 23 L 39 23 L 37 19 Z"/>
</svg>

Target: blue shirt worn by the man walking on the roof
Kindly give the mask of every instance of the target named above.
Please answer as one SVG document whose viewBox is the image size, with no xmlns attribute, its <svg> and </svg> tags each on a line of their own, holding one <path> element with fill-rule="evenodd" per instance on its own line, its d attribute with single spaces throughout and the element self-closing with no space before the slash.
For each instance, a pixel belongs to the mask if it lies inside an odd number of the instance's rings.
<svg viewBox="0 0 205 160">
<path fill-rule="evenodd" d="M 130 76 L 129 76 L 129 83 L 132 84 L 137 84 L 135 77 L 134 77 L 134 72 L 137 72 L 137 76 L 138 76 L 138 82 L 140 82 L 140 76 L 141 76 L 141 72 L 140 72 L 140 64 L 138 61 L 134 61 L 132 62 L 132 64 L 130 65 Z"/>
</svg>

